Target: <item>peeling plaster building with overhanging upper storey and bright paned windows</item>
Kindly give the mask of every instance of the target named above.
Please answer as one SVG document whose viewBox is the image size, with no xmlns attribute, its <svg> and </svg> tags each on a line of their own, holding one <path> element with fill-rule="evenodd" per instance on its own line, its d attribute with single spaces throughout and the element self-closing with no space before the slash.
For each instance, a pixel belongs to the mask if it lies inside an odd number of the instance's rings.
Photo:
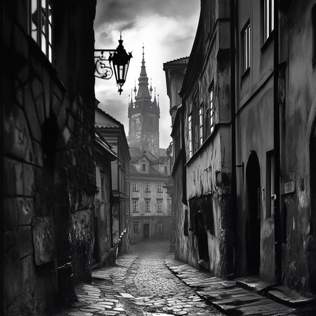
<svg viewBox="0 0 316 316">
<path fill-rule="evenodd" d="M 175 211 L 182 213 L 176 217 L 179 234 L 182 231 L 176 252 L 192 266 L 220 277 L 234 270 L 229 95 L 229 1 L 201 1 L 197 35 L 179 92 L 185 207 Z M 179 150 L 180 145 L 174 147 Z"/>
</svg>

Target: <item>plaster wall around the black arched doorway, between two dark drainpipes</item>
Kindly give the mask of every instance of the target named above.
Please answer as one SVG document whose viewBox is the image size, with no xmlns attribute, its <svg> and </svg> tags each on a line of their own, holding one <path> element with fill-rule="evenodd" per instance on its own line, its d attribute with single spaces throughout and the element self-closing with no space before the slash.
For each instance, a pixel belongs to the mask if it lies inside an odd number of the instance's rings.
<svg viewBox="0 0 316 316">
<path fill-rule="evenodd" d="M 267 187 L 267 152 L 273 149 L 273 38 L 262 47 L 260 24 L 260 2 L 238 3 L 238 30 L 250 19 L 250 71 L 243 74 L 240 69 L 240 50 L 236 50 L 236 165 L 237 210 L 238 210 L 238 273 L 247 274 L 246 264 L 246 221 L 248 216 L 246 167 L 251 150 L 258 155 L 260 165 L 260 279 L 274 282 L 274 222 L 266 216 L 266 204 L 271 203 Z M 240 44 L 241 45 L 241 44 Z M 239 45 L 239 46 L 240 46 Z M 261 48 L 261 49 L 260 49 Z M 241 78 L 240 78 L 241 76 Z M 237 79 L 238 78 L 238 79 Z M 243 107 L 243 108 L 242 108 Z M 241 109 L 242 108 L 242 109 Z M 239 110 L 239 111 L 238 111 Z M 249 267 L 248 267 L 249 268 Z"/>
</svg>

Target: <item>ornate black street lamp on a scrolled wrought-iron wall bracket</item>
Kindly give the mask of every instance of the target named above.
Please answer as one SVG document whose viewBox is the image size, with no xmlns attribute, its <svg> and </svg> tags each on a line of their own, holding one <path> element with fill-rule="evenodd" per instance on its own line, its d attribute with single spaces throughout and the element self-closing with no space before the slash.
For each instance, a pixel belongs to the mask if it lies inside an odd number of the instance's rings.
<svg viewBox="0 0 316 316">
<path fill-rule="evenodd" d="M 130 64 L 130 59 L 133 57 L 131 53 L 127 54 L 122 45 L 122 34 L 120 35 L 119 46 L 116 49 L 96 49 L 94 52 L 100 52 L 99 56 L 94 56 L 95 70 L 96 74 L 94 76 L 102 79 L 110 79 L 113 75 L 113 70 L 111 67 L 111 61 L 114 68 L 114 75 L 116 83 L 119 86 L 119 94 L 121 94 L 122 86 L 125 83 L 128 66 Z M 104 52 L 110 52 L 110 56 L 106 58 L 103 56 Z M 113 52 L 113 54 L 111 54 Z M 107 66 L 106 61 L 109 62 L 110 66 Z"/>
</svg>

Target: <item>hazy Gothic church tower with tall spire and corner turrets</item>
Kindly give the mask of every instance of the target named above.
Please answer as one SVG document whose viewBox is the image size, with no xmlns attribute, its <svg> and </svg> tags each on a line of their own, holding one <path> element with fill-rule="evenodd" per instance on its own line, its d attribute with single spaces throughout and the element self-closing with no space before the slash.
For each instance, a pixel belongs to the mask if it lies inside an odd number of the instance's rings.
<svg viewBox="0 0 316 316">
<path fill-rule="evenodd" d="M 143 60 L 138 78 L 138 91 L 135 84 L 135 101 L 133 102 L 132 95 L 131 102 L 128 105 L 129 132 L 127 141 L 130 147 L 139 148 L 141 152 L 143 150 L 149 151 L 159 158 L 159 94 L 158 103 L 156 101 L 156 92 L 154 101 L 151 101 L 153 89 L 151 84 L 150 89 L 148 89 L 148 85 L 143 46 Z"/>
</svg>

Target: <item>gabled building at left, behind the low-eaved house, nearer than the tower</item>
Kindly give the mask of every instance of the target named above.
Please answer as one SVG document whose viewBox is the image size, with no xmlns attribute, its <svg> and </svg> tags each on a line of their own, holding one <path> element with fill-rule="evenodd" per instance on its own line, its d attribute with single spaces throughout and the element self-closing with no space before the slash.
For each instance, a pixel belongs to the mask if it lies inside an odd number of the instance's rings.
<svg viewBox="0 0 316 316">
<path fill-rule="evenodd" d="M 117 159 L 111 162 L 112 169 L 112 227 L 113 245 L 117 245 L 117 253 L 125 253 L 128 245 L 128 220 L 127 215 L 130 209 L 130 153 L 122 125 L 109 114 L 100 108 L 95 108 L 95 128 L 106 141 L 112 146 Z"/>
</svg>

